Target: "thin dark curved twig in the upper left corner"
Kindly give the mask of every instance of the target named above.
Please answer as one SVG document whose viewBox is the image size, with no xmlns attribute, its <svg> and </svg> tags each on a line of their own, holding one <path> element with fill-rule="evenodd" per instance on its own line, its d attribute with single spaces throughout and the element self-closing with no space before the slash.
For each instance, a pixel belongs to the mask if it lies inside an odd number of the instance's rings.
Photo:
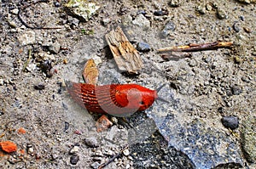
<svg viewBox="0 0 256 169">
<path fill-rule="evenodd" d="M 49 3 L 49 0 L 39 0 L 39 1 L 35 2 L 35 3 L 28 4 L 25 7 L 19 8 L 18 18 L 20 19 L 20 22 L 23 25 L 25 25 L 27 28 L 30 28 L 30 29 L 37 29 L 37 30 L 39 30 L 39 29 L 44 29 L 44 30 L 61 29 L 61 27 L 44 27 L 44 25 L 43 26 L 38 26 L 38 27 L 33 27 L 32 25 L 27 25 L 26 24 L 26 21 L 23 20 L 23 18 L 21 16 L 22 11 L 24 9 L 28 8 L 28 7 L 31 7 L 34 4 L 37 4 L 37 3 Z"/>
</svg>

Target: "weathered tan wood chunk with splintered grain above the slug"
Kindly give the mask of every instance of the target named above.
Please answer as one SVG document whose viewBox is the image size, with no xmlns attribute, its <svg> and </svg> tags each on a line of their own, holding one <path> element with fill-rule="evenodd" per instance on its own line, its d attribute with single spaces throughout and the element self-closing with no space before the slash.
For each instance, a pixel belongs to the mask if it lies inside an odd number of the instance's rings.
<svg viewBox="0 0 256 169">
<path fill-rule="evenodd" d="M 138 74 L 138 71 L 143 68 L 143 61 L 121 28 L 118 26 L 115 31 L 106 34 L 106 40 L 119 70 Z"/>
</svg>

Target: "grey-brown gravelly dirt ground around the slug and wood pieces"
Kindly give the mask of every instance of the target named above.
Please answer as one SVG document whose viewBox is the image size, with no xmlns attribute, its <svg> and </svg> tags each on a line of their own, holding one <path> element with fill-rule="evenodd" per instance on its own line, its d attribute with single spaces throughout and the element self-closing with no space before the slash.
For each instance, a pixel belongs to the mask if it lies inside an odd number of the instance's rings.
<svg viewBox="0 0 256 169">
<path fill-rule="evenodd" d="M 113 156 L 105 168 L 256 167 L 255 1 L 97 1 L 100 8 L 89 20 L 70 14 L 65 4 L 1 1 L 0 141 L 15 143 L 17 150 L 2 148 L 0 168 L 101 168 Z M 144 67 L 137 76 L 119 72 L 108 48 L 105 35 L 117 26 L 135 48 L 139 42 L 150 46 L 140 51 Z M 157 52 L 218 41 L 233 45 Z M 113 126 L 96 132 L 100 115 L 79 107 L 64 86 L 84 82 L 84 63 L 91 58 L 99 68 L 99 85 L 155 89 L 166 84 L 159 94 L 171 103 L 154 103 L 125 119 L 109 115 Z M 224 127 L 226 116 L 237 117 L 239 127 Z M 214 147 L 215 140 L 194 143 L 197 138 L 188 132 L 195 129 L 192 124 L 201 127 L 199 137 L 206 131 L 224 134 L 216 141 L 224 146 L 201 154 L 208 147 L 199 144 Z M 180 138 L 179 126 L 185 131 Z M 234 154 L 226 155 L 229 145 Z M 200 160 L 193 150 L 206 158 Z"/>
</svg>

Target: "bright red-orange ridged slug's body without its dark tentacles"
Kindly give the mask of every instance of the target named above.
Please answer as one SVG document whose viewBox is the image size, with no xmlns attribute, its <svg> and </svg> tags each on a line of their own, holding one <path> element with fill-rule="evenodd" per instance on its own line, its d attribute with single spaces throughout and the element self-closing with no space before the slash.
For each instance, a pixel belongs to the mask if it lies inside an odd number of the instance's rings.
<svg viewBox="0 0 256 169">
<path fill-rule="evenodd" d="M 137 84 L 91 84 L 67 82 L 72 98 L 87 110 L 100 114 L 129 116 L 146 110 L 158 98 L 157 91 Z"/>
</svg>

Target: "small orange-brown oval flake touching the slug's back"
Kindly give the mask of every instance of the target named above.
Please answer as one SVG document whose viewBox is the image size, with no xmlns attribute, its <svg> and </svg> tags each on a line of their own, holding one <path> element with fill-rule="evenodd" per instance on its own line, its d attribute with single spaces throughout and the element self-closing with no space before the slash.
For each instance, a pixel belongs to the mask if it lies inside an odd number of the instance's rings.
<svg viewBox="0 0 256 169">
<path fill-rule="evenodd" d="M 98 82 L 99 70 L 94 62 L 94 59 L 89 59 L 84 65 L 83 76 L 84 81 L 87 84 L 96 85 Z"/>
</svg>

